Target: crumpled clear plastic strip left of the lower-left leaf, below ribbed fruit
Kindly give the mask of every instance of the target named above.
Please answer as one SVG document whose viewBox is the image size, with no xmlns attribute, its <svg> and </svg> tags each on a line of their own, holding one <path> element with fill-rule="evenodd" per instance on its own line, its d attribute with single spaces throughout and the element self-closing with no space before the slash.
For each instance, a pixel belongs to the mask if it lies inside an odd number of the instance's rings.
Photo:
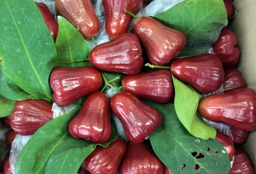
<svg viewBox="0 0 256 174">
<path fill-rule="evenodd" d="M 10 168 L 13 174 L 15 174 L 15 166 L 17 163 L 17 159 L 20 155 L 20 152 L 31 137 L 32 135 L 28 135 L 28 136 L 16 135 L 15 139 L 12 142 L 9 162 L 10 162 Z"/>
</svg>

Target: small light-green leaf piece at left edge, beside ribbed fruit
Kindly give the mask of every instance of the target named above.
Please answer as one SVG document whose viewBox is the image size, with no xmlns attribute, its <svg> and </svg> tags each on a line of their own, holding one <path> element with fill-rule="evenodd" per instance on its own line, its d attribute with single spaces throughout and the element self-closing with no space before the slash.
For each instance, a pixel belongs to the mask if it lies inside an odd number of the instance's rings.
<svg viewBox="0 0 256 174">
<path fill-rule="evenodd" d="M 9 100 L 0 95 L 0 117 L 10 116 L 16 100 Z"/>
</svg>

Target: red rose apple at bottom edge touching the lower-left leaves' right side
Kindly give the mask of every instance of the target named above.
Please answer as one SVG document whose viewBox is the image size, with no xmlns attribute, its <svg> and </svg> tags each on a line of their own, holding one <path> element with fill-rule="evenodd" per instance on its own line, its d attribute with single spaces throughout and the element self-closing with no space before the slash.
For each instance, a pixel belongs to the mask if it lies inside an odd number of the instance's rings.
<svg viewBox="0 0 256 174">
<path fill-rule="evenodd" d="M 116 174 L 125 152 L 125 140 L 118 138 L 106 148 L 97 146 L 84 160 L 81 168 L 91 174 Z"/>
</svg>

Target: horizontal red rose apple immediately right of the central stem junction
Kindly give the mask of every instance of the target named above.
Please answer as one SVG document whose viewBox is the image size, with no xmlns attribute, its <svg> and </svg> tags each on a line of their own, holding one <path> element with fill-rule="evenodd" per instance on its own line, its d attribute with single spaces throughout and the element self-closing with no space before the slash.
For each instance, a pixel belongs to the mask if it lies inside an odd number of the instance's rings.
<svg viewBox="0 0 256 174">
<path fill-rule="evenodd" d="M 160 104 L 168 103 L 174 96 L 172 75 L 169 70 L 155 69 L 127 75 L 122 79 L 123 90 L 140 99 Z"/>
</svg>

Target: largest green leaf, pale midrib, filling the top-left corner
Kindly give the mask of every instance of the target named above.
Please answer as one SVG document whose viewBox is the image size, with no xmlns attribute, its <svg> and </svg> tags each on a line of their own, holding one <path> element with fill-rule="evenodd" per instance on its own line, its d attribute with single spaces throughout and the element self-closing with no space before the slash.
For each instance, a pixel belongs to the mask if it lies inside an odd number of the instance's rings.
<svg viewBox="0 0 256 174">
<path fill-rule="evenodd" d="M 0 19 L 1 66 L 26 93 L 52 100 L 48 79 L 56 49 L 35 2 L 1 0 Z"/>
</svg>

